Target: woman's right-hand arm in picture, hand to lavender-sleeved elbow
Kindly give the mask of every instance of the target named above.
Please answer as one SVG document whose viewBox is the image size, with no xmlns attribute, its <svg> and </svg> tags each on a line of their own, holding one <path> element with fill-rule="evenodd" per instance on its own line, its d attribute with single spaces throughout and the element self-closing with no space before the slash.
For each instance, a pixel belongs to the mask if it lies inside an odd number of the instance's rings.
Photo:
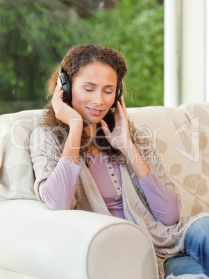
<svg viewBox="0 0 209 279">
<path fill-rule="evenodd" d="M 158 176 L 153 176 L 154 172 L 145 162 L 144 156 L 133 144 L 129 133 L 126 105 L 123 98 L 120 102 L 117 102 L 117 108 L 115 109 L 115 130 L 110 133 L 104 121 L 102 121 L 101 125 L 110 144 L 119 149 L 131 164 L 137 178 L 139 178 L 140 185 L 142 184 L 147 202 L 156 218 L 169 226 L 176 223 L 179 219 L 178 196 L 172 187 L 167 186 Z M 163 168 L 162 171 L 164 174 Z"/>
</svg>

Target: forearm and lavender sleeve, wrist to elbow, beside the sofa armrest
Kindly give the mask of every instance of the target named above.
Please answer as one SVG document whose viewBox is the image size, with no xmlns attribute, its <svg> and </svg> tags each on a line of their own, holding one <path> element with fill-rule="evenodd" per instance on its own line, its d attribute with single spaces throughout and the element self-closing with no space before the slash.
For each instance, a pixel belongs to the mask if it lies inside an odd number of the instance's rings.
<svg viewBox="0 0 209 279">
<path fill-rule="evenodd" d="M 51 210 L 69 210 L 72 208 L 78 176 L 81 173 L 81 167 L 78 166 L 78 155 L 82 130 L 76 123 L 74 123 L 75 125 L 72 121 L 71 123 L 62 157 L 47 178 L 42 190 L 42 200 Z"/>
</svg>

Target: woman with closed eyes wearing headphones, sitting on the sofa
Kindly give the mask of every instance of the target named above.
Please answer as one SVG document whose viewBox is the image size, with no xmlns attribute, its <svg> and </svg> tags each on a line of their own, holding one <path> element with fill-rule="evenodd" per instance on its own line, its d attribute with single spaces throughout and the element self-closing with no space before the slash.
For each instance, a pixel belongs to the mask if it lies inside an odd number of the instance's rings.
<svg viewBox="0 0 209 279">
<path fill-rule="evenodd" d="M 90 210 L 141 226 L 162 278 L 172 272 L 209 276 L 208 214 L 179 217 L 178 193 L 160 156 L 127 119 L 126 71 L 119 51 L 82 44 L 52 74 L 51 102 L 31 136 L 37 198 L 51 210 Z"/>
</svg>

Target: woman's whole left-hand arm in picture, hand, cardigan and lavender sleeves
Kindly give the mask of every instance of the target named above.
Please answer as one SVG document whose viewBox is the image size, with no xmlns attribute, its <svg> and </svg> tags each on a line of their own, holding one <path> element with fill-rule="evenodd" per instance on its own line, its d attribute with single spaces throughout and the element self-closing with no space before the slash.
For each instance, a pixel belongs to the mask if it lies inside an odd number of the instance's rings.
<svg viewBox="0 0 209 279">
<path fill-rule="evenodd" d="M 74 208 L 76 182 L 81 172 L 77 164 L 83 121 L 74 109 L 62 102 L 61 95 L 62 90 L 56 87 L 52 103 L 56 117 L 70 126 L 64 148 L 50 129 L 37 128 L 31 137 L 35 193 L 52 210 Z"/>
</svg>

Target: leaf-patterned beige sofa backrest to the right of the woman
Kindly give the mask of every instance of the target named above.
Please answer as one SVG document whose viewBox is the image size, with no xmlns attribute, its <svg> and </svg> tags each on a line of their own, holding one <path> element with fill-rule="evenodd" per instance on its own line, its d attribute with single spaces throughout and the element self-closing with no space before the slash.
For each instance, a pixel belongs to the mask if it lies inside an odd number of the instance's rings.
<svg viewBox="0 0 209 279">
<path fill-rule="evenodd" d="M 128 108 L 153 140 L 181 196 L 181 214 L 209 212 L 209 103 Z"/>
</svg>

